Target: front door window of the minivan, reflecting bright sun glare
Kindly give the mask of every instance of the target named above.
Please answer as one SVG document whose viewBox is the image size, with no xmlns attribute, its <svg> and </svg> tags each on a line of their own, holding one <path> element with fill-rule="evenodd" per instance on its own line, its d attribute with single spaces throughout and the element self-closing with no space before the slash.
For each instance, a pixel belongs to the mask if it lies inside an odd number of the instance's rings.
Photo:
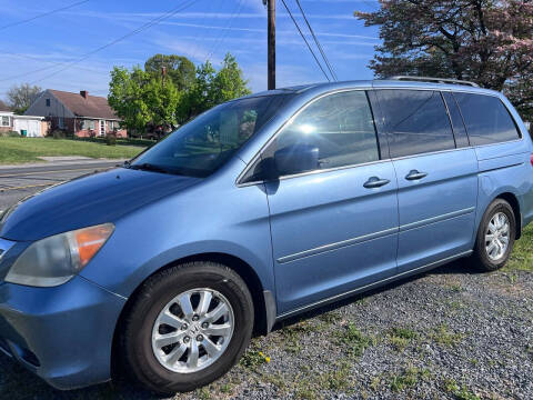
<svg viewBox="0 0 533 400">
<path fill-rule="evenodd" d="M 319 151 L 319 169 L 353 166 L 380 159 L 372 111 L 364 91 L 319 99 L 291 120 L 265 154 L 292 146 Z"/>
</svg>

